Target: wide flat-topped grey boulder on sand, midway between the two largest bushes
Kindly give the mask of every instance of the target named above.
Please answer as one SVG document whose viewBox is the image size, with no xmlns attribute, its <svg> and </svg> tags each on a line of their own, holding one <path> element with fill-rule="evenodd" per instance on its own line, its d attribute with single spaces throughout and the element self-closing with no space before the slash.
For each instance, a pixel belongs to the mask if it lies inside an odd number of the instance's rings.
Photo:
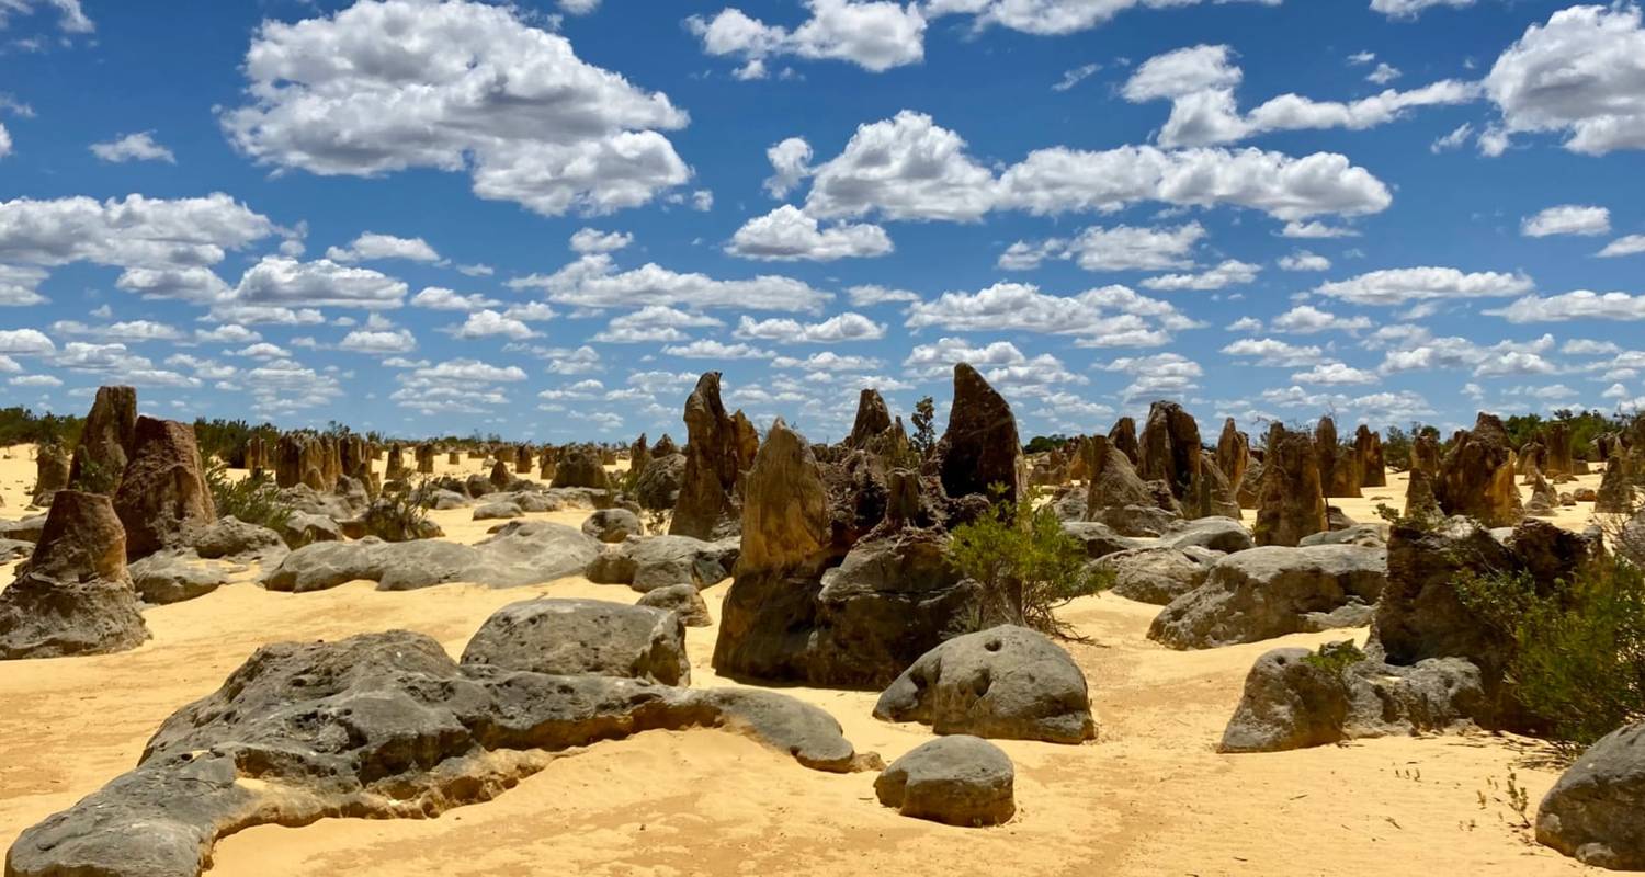
<svg viewBox="0 0 1645 877">
<path fill-rule="evenodd" d="M 1286 633 L 1357 627 L 1387 582 L 1387 553 L 1352 545 L 1265 546 L 1227 555 L 1206 582 L 1171 601 L 1148 638 L 1217 648 Z"/>
</svg>

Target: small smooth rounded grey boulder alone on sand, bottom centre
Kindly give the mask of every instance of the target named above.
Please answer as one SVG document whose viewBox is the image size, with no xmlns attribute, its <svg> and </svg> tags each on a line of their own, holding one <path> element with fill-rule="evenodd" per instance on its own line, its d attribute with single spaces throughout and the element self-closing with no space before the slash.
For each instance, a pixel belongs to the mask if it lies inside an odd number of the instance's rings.
<svg viewBox="0 0 1645 877">
<path fill-rule="evenodd" d="M 1015 770 L 1000 747 L 979 737 L 943 737 L 892 762 L 873 780 L 880 803 L 934 823 L 997 826 L 1017 813 Z"/>
</svg>

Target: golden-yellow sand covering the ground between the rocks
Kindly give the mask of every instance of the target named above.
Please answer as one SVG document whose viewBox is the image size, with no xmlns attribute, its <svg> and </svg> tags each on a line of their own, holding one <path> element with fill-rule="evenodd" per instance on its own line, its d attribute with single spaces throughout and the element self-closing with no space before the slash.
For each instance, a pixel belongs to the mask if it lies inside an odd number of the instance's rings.
<svg viewBox="0 0 1645 877">
<path fill-rule="evenodd" d="M 0 451 L 7 503 L 0 515 L 18 517 L 33 464 L 26 452 L 10 454 L 5 459 Z M 1341 505 L 1359 520 L 1375 520 L 1375 502 L 1400 505 L 1403 482 Z M 466 522 L 467 513 L 438 513 L 449 538 L 484 535 L 490 522 Z M 1561 523 L 1581 527 L 1586 510 L 1568 518 Z M 0 581 L 10 581 L 7 568 Z M 725 589 L 704 592 L 716 619 Z M 540 594 L 637 599 L 627 587 L 584 579 L 396 594 L 375 592 L 367 582 L 316 594 L 234 584 L 145 612 L 155 638 L 135 652 L 0 663 L 0 841 L 10 844 L 23 828 L 135 765 L 171 711 L 214 691 L 262 643 L 403 627 L 433 635 L 456 655 L 492 610 Z M 905 819 L 875 801 L 872 773 L 804 770 L 737 735 L 648 732 L 568 752 L 502 798 L 438 819 L 250 829 L 219 844 L 212 874 L 951 877 L 1003 869 L 1082 877 L 1365 877 L 1416 869 L 1586 870 L 1531 844 L 1507 805 L 1502 787 L 1510 773 L 1528 788 L 1531 810 L 1556 778 L 1530 740 L 1476 734 L 1272 755 L 1212 750 L 1260 653 L 1364 638 L 1364 630 L 1183 653 L 1145 638 L 1156 612 L 1114 596 L 1069 607 L 1068 619 L 1092 638 L 1069 652 L 1091 681 L 1099 740 L 1079 747 L 1002 740 L 1017 763 L 1018 814 L 1000 828 Z M 732 684 L 709 666 L 716 633 L 714 627 L 689 629 L 696 686 Z M 859 750 L 887 760 L 929 739 L 920 726 L 875 721 L 873 693 L 785 691 L 827 709 Z"/>
</svg>

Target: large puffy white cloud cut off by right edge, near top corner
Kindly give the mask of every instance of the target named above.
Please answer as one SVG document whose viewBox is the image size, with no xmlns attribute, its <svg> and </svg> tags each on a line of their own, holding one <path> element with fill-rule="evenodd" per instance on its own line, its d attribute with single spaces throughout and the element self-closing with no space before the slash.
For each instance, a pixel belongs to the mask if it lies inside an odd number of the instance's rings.
<svg viewBox="0 0 1645 877">
<path fill-rule="evenodd" d="M 1584 155 L 1645 148 L 1645 26 L 1632 3 L 1571 7 L 1531 25 L 1485 76 L 1500 153 L 1522 132 L 1559 132 Z"/>
</svg>

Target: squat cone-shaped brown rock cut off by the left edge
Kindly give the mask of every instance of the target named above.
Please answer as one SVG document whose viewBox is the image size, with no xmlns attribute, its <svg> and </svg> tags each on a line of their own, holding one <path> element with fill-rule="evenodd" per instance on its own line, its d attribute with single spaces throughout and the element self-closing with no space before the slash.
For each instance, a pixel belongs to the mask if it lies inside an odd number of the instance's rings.
<svg viewBox="0 0 1645 877">
<path fill-rule="evenodd" d="M 114 505 L 58 490 L 28 564 L 0 591 L 0 660 L 105 655 L 145 640 Z"/>
</svg>

